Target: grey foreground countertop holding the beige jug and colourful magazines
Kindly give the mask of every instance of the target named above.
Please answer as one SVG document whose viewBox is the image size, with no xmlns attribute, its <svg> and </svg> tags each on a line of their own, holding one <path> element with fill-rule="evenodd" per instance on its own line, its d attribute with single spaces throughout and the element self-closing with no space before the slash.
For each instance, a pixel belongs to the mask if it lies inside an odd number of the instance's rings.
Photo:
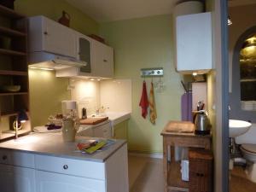
<svg viewBox="0 0 256 192">
<path fill-rule="evenodd" d="M 77 143 L 91 137 L 76 137 L 73 143 L 64 143 L 61 133 L 32 133 L 17 140 L 0 143 L 0 148 L 23 151 L 32 154 L 46 154 L 69 159 L 90 160 L 104 162 L 108 160 L 115 151 L 125 145 L 125 140 L 114 140 L 108 148 L 95 154 L 84 154 L 76 149 Z"/>
</svg>

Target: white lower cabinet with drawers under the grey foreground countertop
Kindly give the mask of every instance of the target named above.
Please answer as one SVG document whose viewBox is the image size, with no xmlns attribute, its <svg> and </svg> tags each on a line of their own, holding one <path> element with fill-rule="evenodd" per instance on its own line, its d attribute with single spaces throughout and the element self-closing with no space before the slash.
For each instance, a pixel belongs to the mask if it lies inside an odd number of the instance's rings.
<svg viewBox="0 0 256 192">
<path fill-rule="evenodd" d="M 129 191 L 126 144 L 104 162 L 0 149 L 1 155 L 0 192 Z M 18 156 L 26 162 L 16 164 Z"/>
</svg>

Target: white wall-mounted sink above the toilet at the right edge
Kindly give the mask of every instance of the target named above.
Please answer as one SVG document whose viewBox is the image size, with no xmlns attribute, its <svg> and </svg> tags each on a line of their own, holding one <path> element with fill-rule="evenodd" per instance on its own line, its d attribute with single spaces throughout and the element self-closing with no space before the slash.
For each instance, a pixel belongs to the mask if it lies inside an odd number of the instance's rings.
<svg viewBox="0 0 256 192">
<path fill-rule="evenodd" d="M 251 126 L 252 124 L 247 121 L 230 119 L 230 137 L 241 136 L 242 134 L 246 133 Z"/>
</svg>

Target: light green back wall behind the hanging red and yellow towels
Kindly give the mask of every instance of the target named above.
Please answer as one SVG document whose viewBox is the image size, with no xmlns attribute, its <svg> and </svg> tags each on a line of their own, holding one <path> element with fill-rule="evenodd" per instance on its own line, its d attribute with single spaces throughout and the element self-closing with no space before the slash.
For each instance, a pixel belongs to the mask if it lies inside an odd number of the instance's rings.
<svg viewBox="0 0 256 192">
<path fill-rule="evenodd" d="M 102 23 L 100 33 L 113 46 L 115 77 L 132 80 L 129 149 L 161 152 L 160 131 L 168 120 L 180 119 L 180 96 L 183 94 L 181 77 L 173 64 L 172 15 Z M 152 125 L 148 117 L 142 118 L 138 106 L 143 85 L 140 69 L 145 67 L 164 67 L 166 90 L 162 93 L 155 91 L 156 125 Z M 154 78 L 154 82 L 158 80 Z M 149 91 L 151 79 L 146 81 Z"/>
</svg>

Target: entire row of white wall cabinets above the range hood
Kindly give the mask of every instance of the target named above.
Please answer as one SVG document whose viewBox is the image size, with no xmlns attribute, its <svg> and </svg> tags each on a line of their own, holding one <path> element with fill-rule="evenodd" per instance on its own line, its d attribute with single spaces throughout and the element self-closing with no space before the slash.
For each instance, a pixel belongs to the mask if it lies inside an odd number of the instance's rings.
<svg viewBox="0 0 256 192">
<path fill-rule="evenodd" d="M 29 18 L 29 51 L 86 61 L 86 67 L 56 71 L 56 77 L 113 78 L 113 48 L 44 16 Z"/>
</svg>

